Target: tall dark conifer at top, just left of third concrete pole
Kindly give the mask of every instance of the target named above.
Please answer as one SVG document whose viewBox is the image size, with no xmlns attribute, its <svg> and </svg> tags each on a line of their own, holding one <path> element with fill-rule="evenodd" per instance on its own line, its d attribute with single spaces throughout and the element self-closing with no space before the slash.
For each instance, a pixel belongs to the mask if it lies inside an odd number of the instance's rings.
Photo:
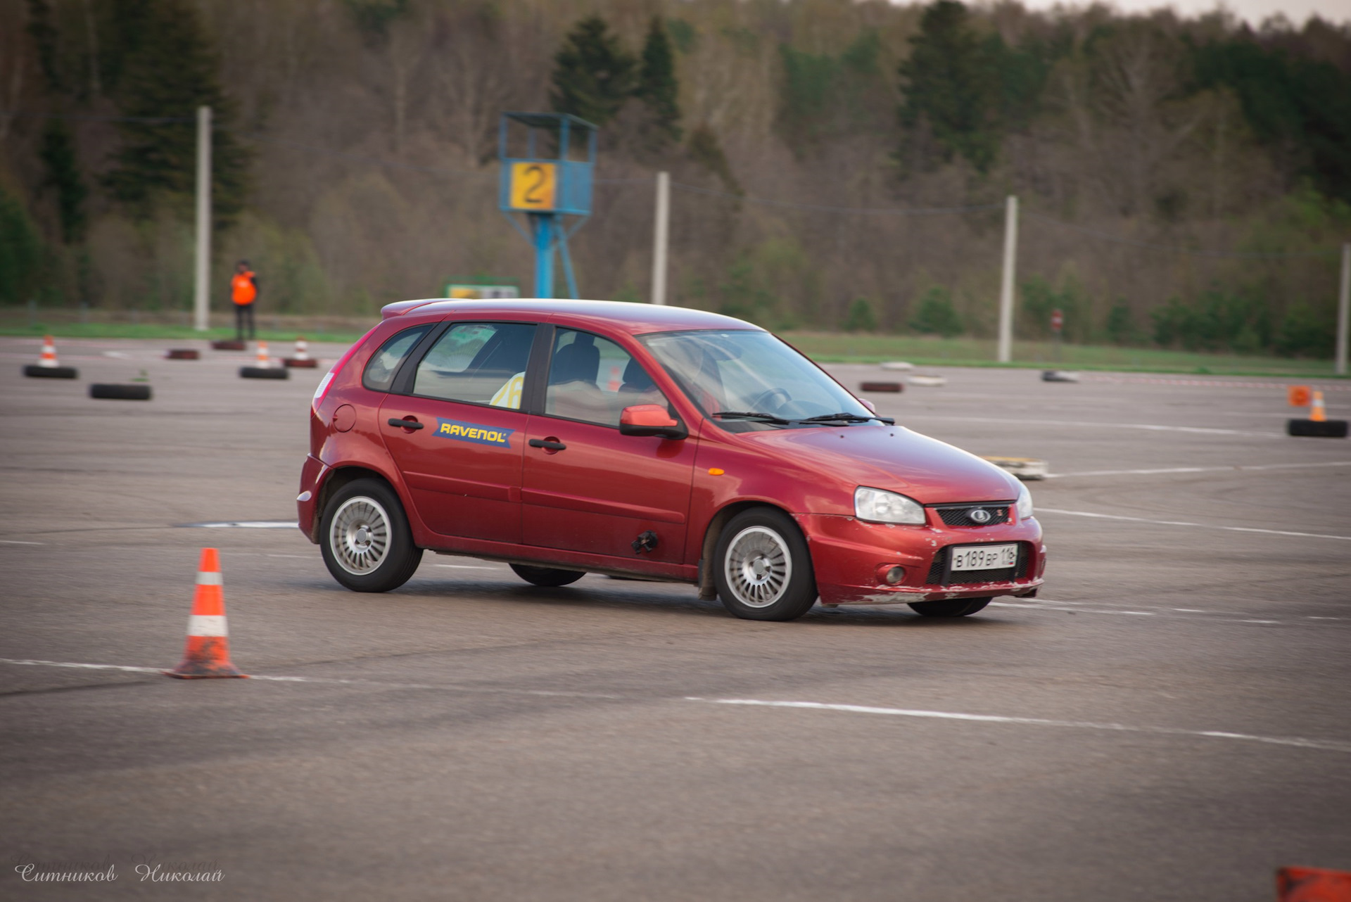
<svg viewBox="0 0 1351 902">
<path fill-rule="evenodd" d="M 920 32 L 911 38 L 911 57 L 900 65 L 901 126 L 915 130 L 927 123 L 944 159 L 961 154 L 979 171 L 989 170 L 1000 140 L 992 122 L 1000 85 L 993 63 L 967 23 L 965 5 L 957 0 L 929 5 Z"/>
</svg>

